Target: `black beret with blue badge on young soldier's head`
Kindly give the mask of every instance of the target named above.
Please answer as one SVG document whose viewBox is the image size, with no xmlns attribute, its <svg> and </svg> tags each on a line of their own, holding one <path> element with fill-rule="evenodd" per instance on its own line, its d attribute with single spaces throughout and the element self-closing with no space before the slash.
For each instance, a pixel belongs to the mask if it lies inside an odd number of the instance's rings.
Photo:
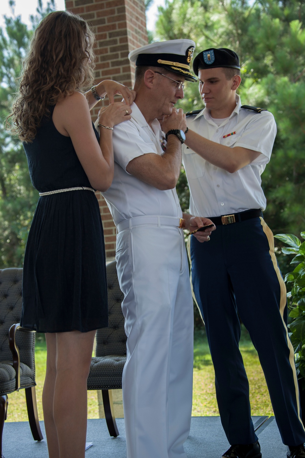
<svg viewBox="0 0 305 458">
<path fill-rule="evenodd" d="M 195 57 L 193 61 L 193 70 L 198 76 L 198 70 L 206 68 L 229 67 L 241 69 L 238 55 L 227 48 L 209 48 Z"/>
</svg>

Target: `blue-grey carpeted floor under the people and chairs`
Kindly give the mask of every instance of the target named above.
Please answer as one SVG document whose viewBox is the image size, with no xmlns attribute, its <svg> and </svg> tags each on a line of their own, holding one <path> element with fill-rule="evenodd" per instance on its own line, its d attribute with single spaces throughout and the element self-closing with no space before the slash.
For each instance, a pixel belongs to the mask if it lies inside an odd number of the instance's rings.
<svg viewBox="0 0 305 458">
<path fill-rule="evenodd" d="M 267 417 L 252 417 L 259 426 Z M 124 420 L 117 419 L 117 438 L 109 436 L 106 420 L 88 420 L 87 441 L 93 442 L 86 451 L 86 458 L 126 458 Z M 43 421 L 40 422 L 45 437 Z M 270 417 L 257 429 L 262 447 L 262 458 L 286 458 L 274 417 Z M 184 444 L 187 458 L 220 458 L 229 447 L 219 417 L 193 417 L 191 432 Z M 3 431 L 3 455 L 5 458 L 48 458 L 47 442 L 34 442 L 29 424 L 5 423 Z M 145 458 L 145 457 L 143 457 Z"/>
</svg>

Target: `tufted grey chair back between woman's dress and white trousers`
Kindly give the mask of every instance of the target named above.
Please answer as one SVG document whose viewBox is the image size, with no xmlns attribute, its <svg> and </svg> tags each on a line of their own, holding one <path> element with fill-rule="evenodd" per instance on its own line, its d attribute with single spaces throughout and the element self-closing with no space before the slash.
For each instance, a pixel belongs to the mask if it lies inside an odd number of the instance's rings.
<svg viewBox="0 0 305 458">
<path fill-rule="evenodd" d="M 124 294 L 118 284 L 117 263 L 110 262 L 107 267 L 108 327 L 96 332 L 96 356 L 126 356 L 126 334 L 124 316 L 121 308 Z"/>
</svg>

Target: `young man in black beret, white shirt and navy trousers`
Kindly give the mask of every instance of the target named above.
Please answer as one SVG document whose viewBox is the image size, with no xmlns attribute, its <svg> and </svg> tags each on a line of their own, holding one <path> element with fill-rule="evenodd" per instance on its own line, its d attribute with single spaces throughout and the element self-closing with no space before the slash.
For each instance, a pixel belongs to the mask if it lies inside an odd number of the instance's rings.
<svg viewBox="0 0 305 458">
<path fill-rule="evenodd" d="M 267 110 L 243 105 L 239 58 L 206 49 L 193 63 L 205 108 L 187 116 L 182 158 L 190 211 L 217 230 L 208 244 L 191 236 L 193 291 L 205 322 L 215 368 L 221 422 L 231 447 L 223 458 L 261 458 L 251 420 L 249 384 L 239 351 L 248 329 L 264 371 L 287 458 L 304 458 L 294 349 L 287 331 L 286 288 L 262 218 L 261 174 L 270 160 L 276 124 Z"/>
</svg>

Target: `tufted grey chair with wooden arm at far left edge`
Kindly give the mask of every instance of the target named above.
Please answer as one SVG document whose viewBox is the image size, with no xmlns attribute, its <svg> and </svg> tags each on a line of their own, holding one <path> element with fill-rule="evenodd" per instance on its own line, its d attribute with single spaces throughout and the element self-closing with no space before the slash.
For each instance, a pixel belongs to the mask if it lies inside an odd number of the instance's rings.
<svg viewBox="0 0 305 458">
<path fill-rule="evenodd" d="M 19 325 L 22 305 L 22 269 L 0 269 L 0 457 L 8 394 L 25 389 L 34 440 L 41 441 L 35 392 L 35 333 Z"/>
</svg>

